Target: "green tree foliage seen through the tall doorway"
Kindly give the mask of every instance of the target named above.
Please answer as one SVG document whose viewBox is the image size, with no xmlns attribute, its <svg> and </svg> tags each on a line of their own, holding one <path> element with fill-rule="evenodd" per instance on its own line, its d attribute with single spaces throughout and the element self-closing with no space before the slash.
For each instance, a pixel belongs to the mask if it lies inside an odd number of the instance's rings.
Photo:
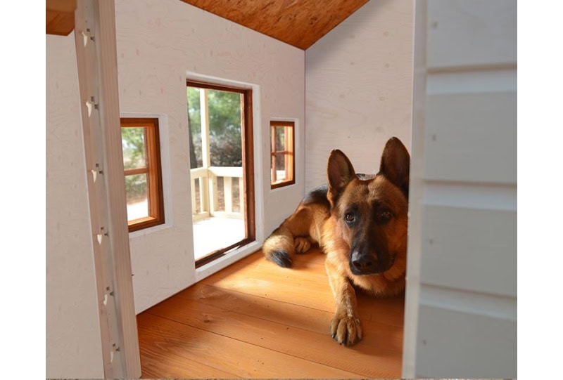
<svg viewBox="0 0 563 380">
<path fill-rule="evenodd" d="M 241 95 L 217 90 L 208 90 L 207 93 L 211 166 L 242 166 Z M 187 101 L 191 166 L 201 167 L 199 89 L 188 87 Z"/>
</svg>

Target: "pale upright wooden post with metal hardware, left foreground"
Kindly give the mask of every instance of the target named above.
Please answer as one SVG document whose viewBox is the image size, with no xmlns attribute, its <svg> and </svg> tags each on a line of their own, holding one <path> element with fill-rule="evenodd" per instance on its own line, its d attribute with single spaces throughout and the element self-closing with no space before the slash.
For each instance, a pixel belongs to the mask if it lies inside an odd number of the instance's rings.
<svg viewBox="0 0 563 380">
<path fill-rule="evenodd" d="M 77 1 L 75 43 L 104 376 L 138 378 L 113 0 Z"/>
</svg>

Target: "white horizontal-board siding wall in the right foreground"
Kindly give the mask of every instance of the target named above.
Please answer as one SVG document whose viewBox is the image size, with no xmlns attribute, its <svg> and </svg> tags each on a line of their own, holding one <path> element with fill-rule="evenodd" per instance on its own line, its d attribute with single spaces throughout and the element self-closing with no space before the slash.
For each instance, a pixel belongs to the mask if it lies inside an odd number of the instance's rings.
<svg viewBox="0 0 563 380">
<path fill-rule="evenodd" d="M 403 376 L 517 377 L 516 1 L 418 6 Z"/>
</svg>

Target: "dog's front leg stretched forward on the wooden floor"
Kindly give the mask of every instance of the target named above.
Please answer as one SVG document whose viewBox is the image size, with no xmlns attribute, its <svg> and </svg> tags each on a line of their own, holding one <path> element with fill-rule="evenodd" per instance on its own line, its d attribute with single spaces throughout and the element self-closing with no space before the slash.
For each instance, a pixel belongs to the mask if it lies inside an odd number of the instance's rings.
<svg viewBox="0 0 563 380">
<path fill-rule="evenodd" d="M 327 260 L 325 265 L 336 301 L 336 312 L 330 322 L 330 334 L 340 344 L 353 346 L 362 339 L 362 323 L 356 310 L 354 288 L 333 263 Z"/>
</svg>

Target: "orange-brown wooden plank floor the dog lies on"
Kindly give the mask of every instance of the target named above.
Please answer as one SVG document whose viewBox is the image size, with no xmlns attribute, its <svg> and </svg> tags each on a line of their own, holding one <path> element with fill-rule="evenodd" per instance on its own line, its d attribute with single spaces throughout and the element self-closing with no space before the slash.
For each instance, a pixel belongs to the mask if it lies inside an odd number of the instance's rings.
<svg viewBox="0 0 563 380">
<path fill-rule="evenodd" d="M 339 346 L 322 252 L 258 251 L 137 315 L 142 377 L 400 378 L 403 305 L 358 294 L 364 339 Z"/>
</svg>

